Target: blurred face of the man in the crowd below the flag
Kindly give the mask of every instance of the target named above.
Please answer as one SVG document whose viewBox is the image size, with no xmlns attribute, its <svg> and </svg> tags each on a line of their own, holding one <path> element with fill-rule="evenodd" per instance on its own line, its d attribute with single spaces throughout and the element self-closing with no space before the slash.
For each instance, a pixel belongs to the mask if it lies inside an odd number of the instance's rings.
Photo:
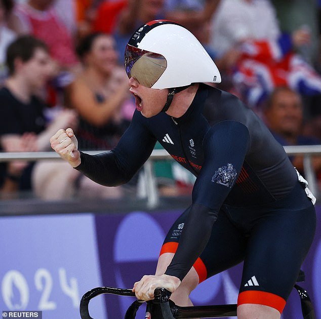
<svg viewBox="0 0 321 319">
<path fill-rule="evenodd" d="M 300 96 L 288 90 L 276 93 L 265 115 L 270 129 L 275 133 L 297 135 L 303 116 Z"/>
</svg>

